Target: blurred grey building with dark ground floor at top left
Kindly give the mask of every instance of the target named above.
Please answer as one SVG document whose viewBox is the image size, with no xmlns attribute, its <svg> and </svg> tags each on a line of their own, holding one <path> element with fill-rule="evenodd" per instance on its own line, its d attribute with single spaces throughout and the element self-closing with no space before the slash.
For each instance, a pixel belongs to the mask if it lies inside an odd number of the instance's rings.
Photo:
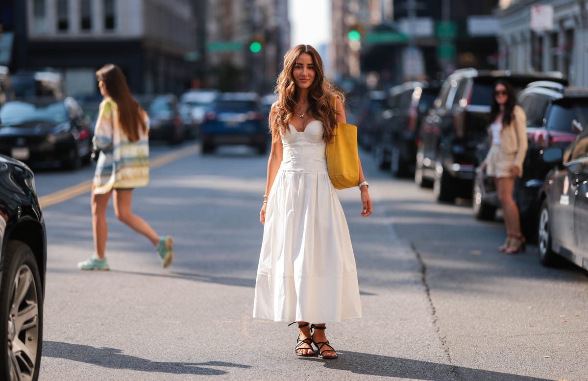
<svg viewBox="0 0 588 381">
<path fill-rule="evenodd" d="M 94 72 L 121 66 L 135 93 L 179 93 L 195 63 L 191 0 L 15 0 L 25 20 L 16 33 L 16 68 L 64 72 L 70 95 L 96 91 Z M 23 35 L 24 34 L 24 35 Z"/>
</svg>

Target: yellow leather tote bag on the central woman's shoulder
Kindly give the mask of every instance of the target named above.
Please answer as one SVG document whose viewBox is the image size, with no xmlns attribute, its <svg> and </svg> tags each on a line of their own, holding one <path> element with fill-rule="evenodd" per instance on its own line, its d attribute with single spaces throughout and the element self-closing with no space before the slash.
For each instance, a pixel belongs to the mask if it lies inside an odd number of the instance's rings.
<svg viewBox="0 0 588 381">
<path fill-rule="evenodd" d="M 333 104 L 336 97 L 333 96 Z M 358 128 L 337 123 L 333 139 L 326 145 L 327 169 L 335 189 L 359 185 Z"/>
</svg>

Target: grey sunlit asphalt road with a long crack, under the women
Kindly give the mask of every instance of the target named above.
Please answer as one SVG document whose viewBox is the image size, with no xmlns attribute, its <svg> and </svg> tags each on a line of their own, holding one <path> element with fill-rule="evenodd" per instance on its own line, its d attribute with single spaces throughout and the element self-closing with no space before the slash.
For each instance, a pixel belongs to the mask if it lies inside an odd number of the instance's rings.
<svg viewBox="0 0 588 381">
<path fill-rule="evenodd" d="M 375 213 L 359 216 L 357 189 L 339 192 L 364 317 L 329 325 L 339 359 L 296 357 L 293 326 L 251 317 L 267 159 L 201 156 L 195 143 L 152 158 L 133 211 L 175 239 L 168 269 L 112 208 L 111 271 L 76 269 L 93 251 L 90 196 L 76 187 L 92 168 L 36 173 L 48 233 L 41 380 L 588 379 L 586 272 L 542 268 L 532 246 L 497 252 L 502 223 L 437 204 L 368 155 Z"/>
</svg>

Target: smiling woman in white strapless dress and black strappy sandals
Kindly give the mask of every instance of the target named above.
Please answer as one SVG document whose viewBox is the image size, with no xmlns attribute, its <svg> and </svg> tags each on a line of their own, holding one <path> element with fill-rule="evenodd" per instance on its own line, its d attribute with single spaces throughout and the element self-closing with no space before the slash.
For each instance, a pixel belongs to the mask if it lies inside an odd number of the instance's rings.
<svg viewBox="0 0 588 381">
<path fill-rule="evenodd" d="M 362 316 L 349 229 L 325 156 L 333 128 L 346 121 L 343 95 L 325 78 L 310 45 L 286 52 L 276 93 L 253 317 L 295 320 L 296 355 L 315 355 L 315 345 L 319 357 L 335 359 L 325 323 Z M 361 163 L 359 189 L 367 217 L 372 201 Z"/>
</svg>

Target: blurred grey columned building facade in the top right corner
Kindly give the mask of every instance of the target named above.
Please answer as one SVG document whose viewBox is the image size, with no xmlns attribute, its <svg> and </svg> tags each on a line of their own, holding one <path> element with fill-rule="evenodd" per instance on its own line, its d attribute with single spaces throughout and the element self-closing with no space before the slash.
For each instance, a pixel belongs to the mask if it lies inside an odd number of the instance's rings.
<svg viewBox="0 0 588 381">
<path fill-rule="evenodd" d="M 505 4 L 498 16 L 500 69 L 559 71 L 571 85 L 588 86 L 588 2 L 516 0 Z M 532 16 L 543 22 L 532 25 Z"/>
</svg>

